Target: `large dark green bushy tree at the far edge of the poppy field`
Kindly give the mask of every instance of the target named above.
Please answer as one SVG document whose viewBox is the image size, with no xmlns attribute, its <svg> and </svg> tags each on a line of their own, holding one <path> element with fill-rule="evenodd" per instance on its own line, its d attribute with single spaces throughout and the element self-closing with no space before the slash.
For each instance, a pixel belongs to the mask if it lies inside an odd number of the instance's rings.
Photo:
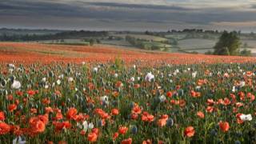
<svg viewBox="0 0 256 144">
<path fill-rule="evenodd" d="M 218 42 L 214 46 L 214 54 L 218 55 L 239 55 L 239 48 L 241 46 L 238 33 L 235 31 L 222 33 Z"/>
</svg>

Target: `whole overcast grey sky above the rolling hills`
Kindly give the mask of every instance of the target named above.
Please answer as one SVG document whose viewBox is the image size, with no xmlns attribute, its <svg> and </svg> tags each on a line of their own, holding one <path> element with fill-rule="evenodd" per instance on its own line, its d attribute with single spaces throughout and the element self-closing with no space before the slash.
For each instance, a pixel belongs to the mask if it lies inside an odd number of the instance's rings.
<svg viewBox="0 0 256 144">
<path fill-rule="evenodd" d="M 0 27 L 256 31 L 256 0 L 0 0 Z"/>
</svg>

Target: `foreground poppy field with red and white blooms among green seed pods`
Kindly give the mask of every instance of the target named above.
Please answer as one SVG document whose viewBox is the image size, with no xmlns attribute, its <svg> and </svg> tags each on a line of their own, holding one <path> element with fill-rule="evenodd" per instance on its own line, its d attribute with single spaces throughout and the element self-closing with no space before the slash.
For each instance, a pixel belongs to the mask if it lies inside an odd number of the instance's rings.
<svg viewBox="0 0 256 144">
<path fill-rule="evenodd" d="M 0 142 L 256 142 L 254 58 L 159 55 L 129 63 L 122 53 L 98 62 L 10 62 L 6 54 Z"/>
</svg>

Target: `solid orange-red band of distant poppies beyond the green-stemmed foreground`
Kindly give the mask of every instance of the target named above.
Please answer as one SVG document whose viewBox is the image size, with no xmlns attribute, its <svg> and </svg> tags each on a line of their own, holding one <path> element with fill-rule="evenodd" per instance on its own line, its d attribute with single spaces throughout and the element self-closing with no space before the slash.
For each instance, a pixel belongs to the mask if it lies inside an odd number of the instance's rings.
<svg viewBox="0 0 256 144">
<path fill-rule="evenodd" d="M 0 62 L 114 62 L 121 58 L 127 64 L 142 62 L 154 66 L 161 63 L 193 64 L 256 62 L 254 57 L 212 56 L 204 54 L 178 54 L 150 50 L 120 49 L 110 46 L 62 46 L 24 42 L 1 42 Z"/>
</svg>

